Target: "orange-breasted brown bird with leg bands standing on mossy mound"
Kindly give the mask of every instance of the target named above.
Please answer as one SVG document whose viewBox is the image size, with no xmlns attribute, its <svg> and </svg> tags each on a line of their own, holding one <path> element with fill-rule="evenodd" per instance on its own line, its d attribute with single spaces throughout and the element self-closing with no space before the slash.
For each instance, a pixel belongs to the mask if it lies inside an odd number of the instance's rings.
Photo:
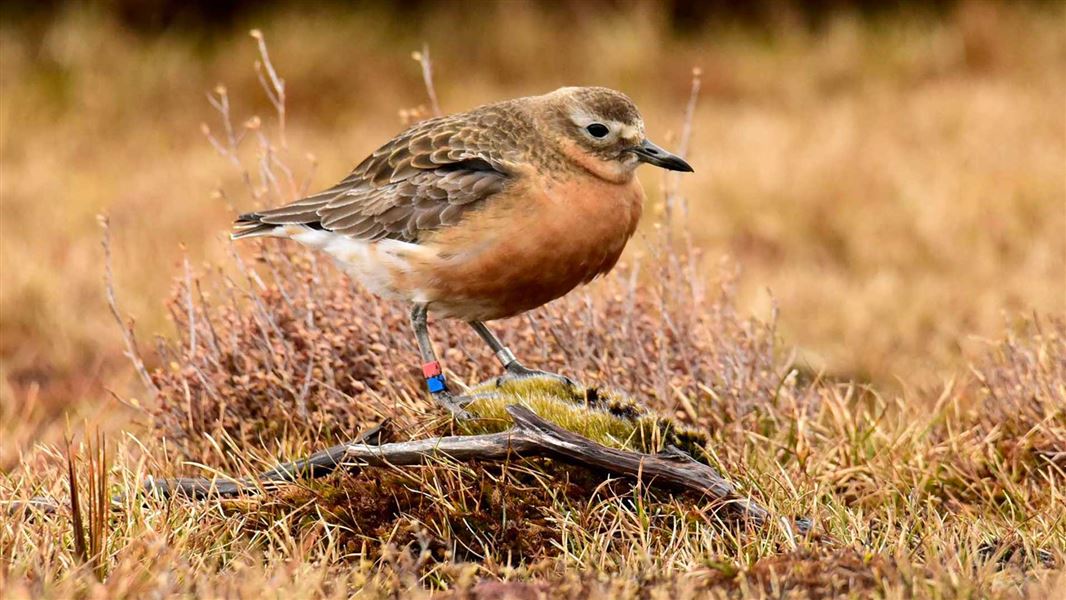
<svg viewBox="0 0 1066 600">
<path fill-rule="evenodd" d="M 642 164 L 692 166 L 650 142 L 627 95 L 561 87 L 429 118 L 385 143 L 339 183 L 241 214 L 235 240 L 275 237 L 330 255 L 369 291 L 409 305 L 430 395 L 458 419 L 427 315 L 469 323 L 500 380 L 562 375 L 523 366 L 485 325 L 608 273 L 636 230 Z"/>
</svg>

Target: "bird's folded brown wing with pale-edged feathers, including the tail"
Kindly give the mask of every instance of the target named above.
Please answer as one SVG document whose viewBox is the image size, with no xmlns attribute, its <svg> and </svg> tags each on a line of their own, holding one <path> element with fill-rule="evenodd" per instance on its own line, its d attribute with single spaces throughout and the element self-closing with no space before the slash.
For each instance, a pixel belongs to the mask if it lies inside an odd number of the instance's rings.
<svg viewBox="0 0 1066 600">
<path fill-rule="evenodd" d="M 430 119 L 367 157 L 340 183 L 276 209 L 241 215 L 235 237 L 307 225 L 362 240 L 417 242 L 454 225 L 512 181 L 516 111 L 502 104 Z"/>
</svg>

